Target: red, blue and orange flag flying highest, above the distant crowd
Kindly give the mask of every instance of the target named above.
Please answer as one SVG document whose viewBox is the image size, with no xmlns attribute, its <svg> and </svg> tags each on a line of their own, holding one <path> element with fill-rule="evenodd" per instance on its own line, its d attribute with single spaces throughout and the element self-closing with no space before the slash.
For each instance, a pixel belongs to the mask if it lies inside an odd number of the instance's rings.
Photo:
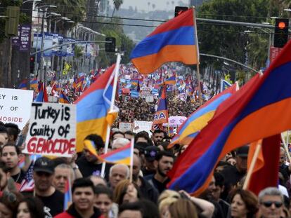
<svg viewBox="0 0 291 218">
<path fill-rule="evenodd" d="M 131 62 L 141 74 L 150 74 L 165 62 L 198 62 L 193 10 L 165 22 L 138 43 L 131 52 Z"/>
</svg>

